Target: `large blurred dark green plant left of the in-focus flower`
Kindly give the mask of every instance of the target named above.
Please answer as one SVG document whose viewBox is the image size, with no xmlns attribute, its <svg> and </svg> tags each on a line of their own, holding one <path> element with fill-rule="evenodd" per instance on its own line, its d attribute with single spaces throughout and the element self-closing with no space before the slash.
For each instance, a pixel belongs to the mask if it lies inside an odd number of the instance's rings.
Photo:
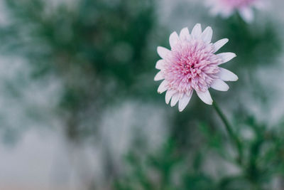
<svg viewBox="0 0 284 190">
<path fill-rule="evenodd" d="M 99 143 L 107 107 L 127 97 L 153 97 L 155 90 L 140 83 L 152 75 L 157 57 L 149 41 L 163 38 L 155 33 L 155 1 L 4 0 L 4 7 L 9 19 L 0 26 L 1 52 L 24 58 L 31 81 L 55 78 L 62 85 L 56 111 L 70 147 L 80 149 L 89 137 Z M 116 169 L 108 144 L 102 152 L 111 178 Z"/>
</svg>

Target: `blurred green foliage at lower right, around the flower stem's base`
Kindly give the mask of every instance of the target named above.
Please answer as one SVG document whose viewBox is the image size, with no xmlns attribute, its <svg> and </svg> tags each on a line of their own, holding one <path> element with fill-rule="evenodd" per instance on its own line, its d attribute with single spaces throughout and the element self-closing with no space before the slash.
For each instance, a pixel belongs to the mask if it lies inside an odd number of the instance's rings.
<svg viewBox="0 0 284 190">
<path fill-rule="evenodd" d="M 144 157 L 130 152 L 130 171 L 116 181 L 115 189 L 272 189 L 275 179 L 283 180 L 283 123 L 268 127 L 254 117 L 237 123 L 234 132 L 241 137 L 243 162 L 233 159 L 237 153 L 231 152 L 230 138 L 200 123 L 200 149 L 180 152 L 175 140 L 168 139 L 158 152 Z"/>
</svg>

